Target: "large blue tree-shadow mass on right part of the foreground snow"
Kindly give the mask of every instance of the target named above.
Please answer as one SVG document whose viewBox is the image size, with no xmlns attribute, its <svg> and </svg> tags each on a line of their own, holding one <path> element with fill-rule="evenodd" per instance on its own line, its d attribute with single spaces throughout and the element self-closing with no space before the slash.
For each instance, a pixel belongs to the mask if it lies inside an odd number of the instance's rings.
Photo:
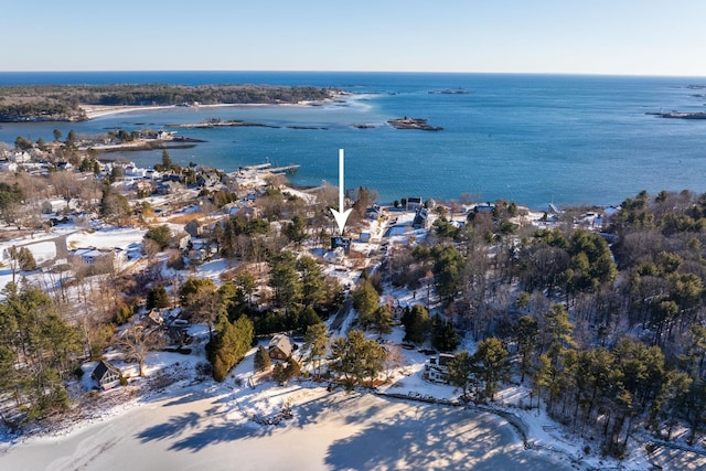
<svg viewBox="0 0 706 471">
<path fill-rule="evenodd" d="M 512 427 L 495 416 L 466 409 L 419 406 L 329 447 L 333 470 L 488 470 L 543 471 L 554 467 L 524 450 Z"/>
</svg>

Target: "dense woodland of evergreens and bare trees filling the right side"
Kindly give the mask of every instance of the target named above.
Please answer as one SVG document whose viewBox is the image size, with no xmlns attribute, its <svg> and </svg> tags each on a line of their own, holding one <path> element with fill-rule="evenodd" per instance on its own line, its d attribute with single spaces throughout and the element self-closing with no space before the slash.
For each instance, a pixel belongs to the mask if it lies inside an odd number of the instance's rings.
<svg viewBox="0 0 706 471">
<path fill-rule="evenodd" d="M 456 384 L 474 400 L 492 398 L 488 382 L 498 381 L 483 375 L 514 358 L 534 406 L 543 399 L 559 422 L 599 438 L 606 453 L 621 457 L 635 430 L 700 440 L 706 195 L 642 192 L 602 234 L 580 227 L 570 212 L 553 229 L 511 227 L 501 210 L 471 213 L 462 228 L 441 216 L 425 244 L 386 267 L 393 283 L 422 299 L 436 291 L 479 349 L 500 342 L 490 356 L 457 355 Z"/>
</svg>

